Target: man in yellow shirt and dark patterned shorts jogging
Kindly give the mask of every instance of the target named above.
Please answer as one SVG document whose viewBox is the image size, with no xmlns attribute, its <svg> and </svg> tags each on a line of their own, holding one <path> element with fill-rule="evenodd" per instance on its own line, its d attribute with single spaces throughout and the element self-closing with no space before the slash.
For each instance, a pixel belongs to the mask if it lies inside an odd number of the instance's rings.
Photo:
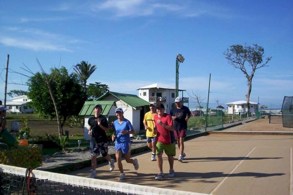
<svg viewBox="0 0 293 195">
<path fill-rule="evenodd" d="M 156 160 L 156 136 L 157 129 L 154 129 L 154 115 L 156 114 L 156 104 L 149 104 L 150 111 L 144 115 L 144 129 L 147 131 L 147 146 L 152 150 L 151 160 Z"/>
</svg>

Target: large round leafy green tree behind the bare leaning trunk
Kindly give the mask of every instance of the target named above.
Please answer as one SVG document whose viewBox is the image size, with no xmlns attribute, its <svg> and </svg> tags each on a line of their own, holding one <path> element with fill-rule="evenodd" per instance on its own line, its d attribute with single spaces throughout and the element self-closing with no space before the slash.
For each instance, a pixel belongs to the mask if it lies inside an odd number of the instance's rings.
<svg viewBox="0 0 293 195">
<path fill-rule="evenodd" d="M 44 77 L 44 72 L 38 72 L 29 78 L 27 82 L 28 98 L 32 100 L 30 105 L 34 107 L 37 114 L 53 119 L 56 117 L 55 106 Z M 85 101 L 85 94 L 76 74 L 68 74 L 67 69 L 63 66 L 60 69 L 50 69 L 50 73 L 46 74 L 46 77 L 58 108 L 58 115 L 62 118 L 61 131 L 63 134 L 64 122 L 67 117 L 79 113 Z"/>
</svg>

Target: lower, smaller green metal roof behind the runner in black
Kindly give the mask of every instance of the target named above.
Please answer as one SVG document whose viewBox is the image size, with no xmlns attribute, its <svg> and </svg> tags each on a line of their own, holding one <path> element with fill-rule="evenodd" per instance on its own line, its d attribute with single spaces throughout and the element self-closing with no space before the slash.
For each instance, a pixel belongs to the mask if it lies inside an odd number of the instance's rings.
<svg viewBox="0 0 293 195">
<path fill-rule="evenodd" d="M 79 115 L 94 115 L 93 108 L 96 104 L 102 105 L 102 115 L 107 115 L 113 105 L 115 105 L 115 101 L 87 101 L 84 102 L 84 106 L 82 107 Z"/>
</svg>

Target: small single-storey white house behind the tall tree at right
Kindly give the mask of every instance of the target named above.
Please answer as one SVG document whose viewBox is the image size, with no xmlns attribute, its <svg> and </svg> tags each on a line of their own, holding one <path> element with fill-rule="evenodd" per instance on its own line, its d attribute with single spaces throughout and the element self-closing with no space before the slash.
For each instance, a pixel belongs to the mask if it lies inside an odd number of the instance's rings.
<svg viewBox="0 0 293 195">
<path fill-rule="evenodd" d="M 225 103 L 228 106 L 228 114 L 239 114 L 244 112 L 255 113 L 255 110 L 258 109 L 257 102 L 249 102 L 249 108 L 246 108 L 246 101 L 236 101 L 236 102 L 229 102 Z"/>
</svg>

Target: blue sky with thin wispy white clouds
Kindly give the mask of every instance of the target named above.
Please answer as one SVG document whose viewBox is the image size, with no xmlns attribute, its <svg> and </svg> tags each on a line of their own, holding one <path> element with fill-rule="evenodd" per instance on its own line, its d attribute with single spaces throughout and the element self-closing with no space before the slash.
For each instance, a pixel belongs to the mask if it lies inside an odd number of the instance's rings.
<svg viewBox="0 0 293 195">
<path fill-rule="evenodd" d="M 163 83 L 175 88 L 175 60 L 179 88 L 200 91 L 209 104 L 245 100 L 247 82 L 228 64 L 223 52 L 233 44 L 264 47 L 269 67 L 253 78 L 251 101 L 280 108 L 293 96 L 293 1 L 1 1 L 0 70 L 7 54 L 9 68 L 23 63 L 46 71 L 88 61 L 97 65 L 88 83 L 101 82 L 111 91 L 138 95 L 139 87 Z M 8 83 L 26 77 L 9 73 Z M 0 99 L 4 99 L 1 79 Z M 7 91 L 27 86 L 8 84 Z M 187 93 L 184 93 L 188 97 Z M 9 98 L 9 96 L 8 96 Z M 9 100 L 9 99 L 8 99 Z M 191 106 L 193 107 L 193 105 Z"/>
</svg>

